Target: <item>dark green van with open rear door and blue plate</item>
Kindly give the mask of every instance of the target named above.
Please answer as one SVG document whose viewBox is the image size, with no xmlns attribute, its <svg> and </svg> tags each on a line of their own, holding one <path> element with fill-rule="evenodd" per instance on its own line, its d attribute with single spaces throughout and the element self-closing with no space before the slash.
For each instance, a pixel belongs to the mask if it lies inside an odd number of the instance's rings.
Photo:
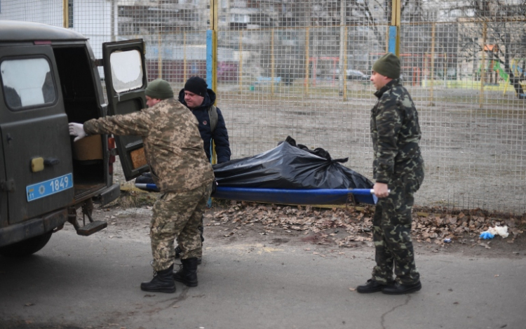
<svg viewBox="0 0 526 329">
<path fill-rule="evenodd" d="M 146 107 L 143 41 L 102 49 L 97 60 L 88 39 L 70 29 L 0 20 L 0 255 L 36 253 L 65 222 L 82 236 L 107 227 L 91 213 L 93 203 L 119 197 L 117 149 L 127 180 L 148 170 L 140 137 L 69 136 L 69 122 Z"/>
</svg>

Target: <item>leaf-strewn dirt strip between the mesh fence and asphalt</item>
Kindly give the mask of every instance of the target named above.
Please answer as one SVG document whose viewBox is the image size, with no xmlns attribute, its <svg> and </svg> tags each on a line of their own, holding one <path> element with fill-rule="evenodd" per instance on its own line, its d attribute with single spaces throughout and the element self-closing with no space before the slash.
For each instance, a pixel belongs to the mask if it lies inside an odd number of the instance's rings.
<svg viewBox="0 0 526 329">
<path fill-rule="evenodd" d="M 97 234 L 102 234 L 107 239 L 149 241 L 151 208 L 157 196 L 159 194 L 156 193 L 123 192 L 121 198 L 114 203 L 95 208 L 94 219 L 106 220 L 108 223 L 107 229 Z M 305 246 L 306 253 L 313 253 L 319 257 L 337 257 L 344 254 L 349 256 L 353 250 L 373 251 L 370 222 L 372 211 L 372 207 L 359 206 L 329 209 L 215 199 L 212 208 L 205 212 L 204 247 L 235 243 L 265 246 L 302 245 Z M 450 230 L 447 231 L 447 226 L 444 228 L 443 224 L 438 223 L 452 218 L 452 215 L 430 214 L 422 212 L 422 209 L 415 209 L 412 231 L 415 253 L 454 253 L 466 257 L 526 257 L 526 238 L 525 234 L 522 234 L 526 228 L 524 218 L 497 219 L 499 221 L 495 222 L 494 217 L 484 217 L 482 222 L 483 217 L 472 214 L 464 218 L 468 217 L 471 221 L 467 220 L 457 227 L 450 224 Z M 476 223 L 476 220 L 482 222 L 479 228 L 471 224 L 473 221 Z M 481 231 L 488 226 L 494 226 L 495 223 L 501 226 L 510 225 L 510 235 L 506 239 L 501 236 L 495 236 L 491 240 L 478 238 Z M 73 230 L 69 224 L 65 229 Z M 446 230 L 446 233 L 440 233 L 440 230 Z M 444 239 L 447 238 L 451 239 L 450 243 L 444 243 Z M 205 249 L 203 252 L 206 253 Z"/>
</svg>

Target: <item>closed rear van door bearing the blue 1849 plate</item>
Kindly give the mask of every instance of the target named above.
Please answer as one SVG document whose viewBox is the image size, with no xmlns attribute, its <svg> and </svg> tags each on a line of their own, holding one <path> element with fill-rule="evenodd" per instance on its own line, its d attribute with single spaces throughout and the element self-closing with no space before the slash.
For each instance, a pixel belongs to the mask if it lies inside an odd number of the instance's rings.
<svg viewBox="0 0 526 329">
<path fill-rule="evenodd" d="M 1 189 L 14 224 L 74 201 L 71 139 L 50 45 L 3 49 L 0 79 Z"/>
</svg>

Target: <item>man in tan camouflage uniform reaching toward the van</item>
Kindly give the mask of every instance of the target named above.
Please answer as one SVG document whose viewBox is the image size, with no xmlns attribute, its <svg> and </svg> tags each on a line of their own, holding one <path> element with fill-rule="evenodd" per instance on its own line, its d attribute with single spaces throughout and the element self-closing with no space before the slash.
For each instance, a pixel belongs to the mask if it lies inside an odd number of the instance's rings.
<svg viewBox="0 0 526 329">
<path fill-rule="evenodd" d="M 173 98 L 167 81 L 149 83 L 147 109 L 126 115 L 92 119 L 83 125 L 69 123 L 75 140 L 86 134 L 138 135 L 154 182 L 161 190 L 150 224 L 154 278 L 141 289 L 175 292 L 175 282 L 197 286 L 197 257 L 201 257 L 201 225 L 210 197 L 214 173 L 203 150 L 194 114 Z M 184 249 L 182 268 L 173 272 L 174 240 Z"/>
</svg>

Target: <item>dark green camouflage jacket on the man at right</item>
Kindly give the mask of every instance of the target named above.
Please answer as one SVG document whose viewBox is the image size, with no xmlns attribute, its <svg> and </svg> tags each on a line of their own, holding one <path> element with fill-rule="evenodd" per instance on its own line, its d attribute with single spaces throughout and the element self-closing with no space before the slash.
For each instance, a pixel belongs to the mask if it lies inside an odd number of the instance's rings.
<svg viewBox="0 0 526 329">
<path fill-rule="evenodd" d="M 372 163 L 377 182 L 389 182 L 423 166 L 418 142 L 422 137 L 418 112 L 411 96 L 398 79 L 375 93 L 378 101 L 371 110 Z"/>
</svg>

